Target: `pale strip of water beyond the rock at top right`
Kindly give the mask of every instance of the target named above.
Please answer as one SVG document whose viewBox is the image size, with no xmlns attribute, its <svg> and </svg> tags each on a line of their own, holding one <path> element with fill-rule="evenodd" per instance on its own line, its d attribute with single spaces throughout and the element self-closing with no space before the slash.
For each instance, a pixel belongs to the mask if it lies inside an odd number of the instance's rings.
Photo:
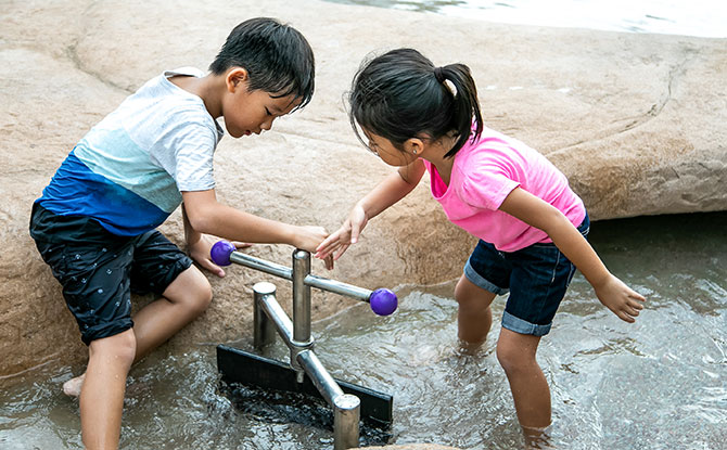
<svg viewBox="0 0 727 450">
<path fill-rule="evenodd" d="M 724 0 L 328 0 L 507 24 L 727 37 Z"/>
</svg>

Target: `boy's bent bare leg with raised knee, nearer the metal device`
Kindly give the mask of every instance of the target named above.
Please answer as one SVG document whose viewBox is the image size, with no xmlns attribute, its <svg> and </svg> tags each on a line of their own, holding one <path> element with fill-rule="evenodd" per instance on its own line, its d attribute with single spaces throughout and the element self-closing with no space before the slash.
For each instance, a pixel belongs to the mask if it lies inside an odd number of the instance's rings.
<svg viewBox="0 0 727 450">
<path fill-rule="evenodd" d="M 133 317 L 133 333 L 137 338 L 135 361 L 149 355 L 200 317 L 211 301 L 209 282 L 200 269 L 190 266 L 169 284 L 162 298 L 146 305 Z"/>
</svg>

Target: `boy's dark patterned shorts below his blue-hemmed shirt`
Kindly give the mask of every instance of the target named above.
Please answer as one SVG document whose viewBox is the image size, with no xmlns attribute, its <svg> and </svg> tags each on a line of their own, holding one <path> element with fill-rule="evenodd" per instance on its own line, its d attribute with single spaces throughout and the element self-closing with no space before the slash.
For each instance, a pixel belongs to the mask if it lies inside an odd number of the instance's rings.
<svg viewBox="0 0 727 450">
<path fill-rule="evenodd" d="M 192 260 L 156 230 L 131 237 L 109 234 L 104 243 L 93 242 L 95 237 L 89 236 L 87 242 L 36 241 L 63 286 L 63 297 L 86 345 L 133 326 L 131 293 L 162 295 L 192 266 Z"/>
</svg>

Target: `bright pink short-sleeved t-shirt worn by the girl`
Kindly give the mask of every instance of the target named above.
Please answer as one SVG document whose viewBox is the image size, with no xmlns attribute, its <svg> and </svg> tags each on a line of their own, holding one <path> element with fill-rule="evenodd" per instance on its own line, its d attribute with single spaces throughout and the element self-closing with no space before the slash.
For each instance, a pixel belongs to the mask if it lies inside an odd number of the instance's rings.
<svg viewBox="0 0 727 450">
<path fill-rule="evenodd" d="M 449 221 L 501 252 L 552 242 L 544 231 L 498 209 L 518 187 L 558 208 L 575 227 L 586 217 L 583 201 L 552 163 L 488 128 L 483 128 L 477 142 L 468 141 L 457 152 L 449 187 L 430 162 L 424 160 L 424 166 L 431 175 L 432 195 Z"/>
</svg>

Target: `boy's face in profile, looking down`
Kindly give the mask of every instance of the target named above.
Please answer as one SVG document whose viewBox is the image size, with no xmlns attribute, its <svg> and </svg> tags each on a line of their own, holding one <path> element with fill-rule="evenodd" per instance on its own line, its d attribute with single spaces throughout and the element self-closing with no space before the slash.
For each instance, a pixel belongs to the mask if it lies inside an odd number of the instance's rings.
<svg viewBox="0 0 727 450">
<path fill-rule="evenodd" d="M 233 138 L 259 134 L 272 128 L 272 121 L 290 114 L 301 104 L 294 95 L 273 98 L 270 92 L 248 91 L 246 70 L 232 69 L 227 75 L 227 95 L 222 102 L 225 128 Z"/>
</svg>

